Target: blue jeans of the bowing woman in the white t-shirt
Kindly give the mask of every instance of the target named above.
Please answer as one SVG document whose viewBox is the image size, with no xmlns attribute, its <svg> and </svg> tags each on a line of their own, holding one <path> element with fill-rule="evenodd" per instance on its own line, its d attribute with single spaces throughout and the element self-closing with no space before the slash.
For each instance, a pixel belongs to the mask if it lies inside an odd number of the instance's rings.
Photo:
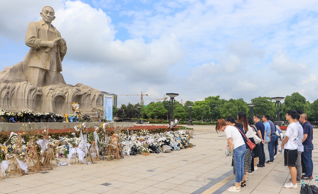
<svg viewBox="0 0 318 194">
<path fill-rule="evenodd" d="M 235 167 L 235 182 L 240 183 L 244 177 L 244 157 L 246 146 L 241 145 L 233 150 L 234 167 Z"/>
</svg>

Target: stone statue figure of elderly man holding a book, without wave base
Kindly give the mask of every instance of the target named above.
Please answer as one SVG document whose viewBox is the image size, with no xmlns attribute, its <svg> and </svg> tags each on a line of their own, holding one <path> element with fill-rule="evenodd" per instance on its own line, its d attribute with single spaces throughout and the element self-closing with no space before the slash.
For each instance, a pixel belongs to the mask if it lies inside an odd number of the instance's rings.
<svg viewBox="0 0 318 194">
<path fill-rule="evenodd" d="M 40 13 L 42 20 L 31 22 L 25 36 L 25 44 L 31 47 L 23 60 L 23 74 L 27 82 L 37 86 L 67 86 L 62 74 L 62 61 L 66 54 L 66 42 L 51 24 L 54 10 L 46 6 Z"/>
</svg>

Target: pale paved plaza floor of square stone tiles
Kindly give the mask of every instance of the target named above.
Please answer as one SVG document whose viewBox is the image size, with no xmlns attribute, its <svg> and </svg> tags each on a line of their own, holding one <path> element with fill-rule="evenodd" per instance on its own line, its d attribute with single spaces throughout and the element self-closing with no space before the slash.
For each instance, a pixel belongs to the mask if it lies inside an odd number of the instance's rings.
<svg viewBox="0 0 318 194">
<path fill-rule="evenodd" d="M 220 194 L 234 183 L 232 158 L 225 158 L 224 132 L 214 126 L 194 130 L 196 146 L 171 153 L 129 156 L 116 161 L 99 161 L 55 167 L 48 173 L 6 178 L 0 181 L 3 193 L 109 193 L 109 194 Z M 314 177 L 318 175 L 318 130 L 314 129 Z M 65 160 L 65 159 L 64 159 Z M 63 161 L 64 161 L 63 160 Z M 66 161 L 66 160 L 65 160 Z M 249 175 L 241 194 L 299 193 L 283 185 L 290 178 L 283 154 L 271 164 Z M 314 180 L 311 184 L 314 184 Z"/>
</svg>

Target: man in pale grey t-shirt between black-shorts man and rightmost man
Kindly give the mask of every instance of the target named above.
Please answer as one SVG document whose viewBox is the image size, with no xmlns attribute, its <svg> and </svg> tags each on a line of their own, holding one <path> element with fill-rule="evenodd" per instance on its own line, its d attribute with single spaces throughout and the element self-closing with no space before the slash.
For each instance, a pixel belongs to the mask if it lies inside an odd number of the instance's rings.
<svg viewBox="0 0 318 194">
<path fill-rule="evenodd" d="M 304 130 L 299 123 L 300 115 L 297 114 L 297 118 L 295 119 L 295 124 L 297 125 L 297 131 L 298 131 L 298 149 L 297 149 L 297 159 L 296 159 L 296 183 L 301 184 L 301 172 L 302 172 L 302 166 L 301 166 L 301 153 L 304 151 L 304 146 L 302 145 L 302 140 L 304 138 Z M 289 179 L 292 181 L 292 178 Z"/>
</svg>

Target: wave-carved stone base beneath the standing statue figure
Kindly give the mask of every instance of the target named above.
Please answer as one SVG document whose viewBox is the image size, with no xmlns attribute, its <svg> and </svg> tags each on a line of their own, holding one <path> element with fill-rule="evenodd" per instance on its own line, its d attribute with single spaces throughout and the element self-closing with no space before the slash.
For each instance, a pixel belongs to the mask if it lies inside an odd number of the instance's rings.
<svg viewBox="0 0 318 194">
<path fill-rule="evenodd" d="M 68 84 L 45 86 L 42 89 L 28 83 L 0 83 L 0 108 L 6 111 L 19 112 L 30 109 L 37 112 L 55 114 L 73 114 L 72 102 L 79 103 L 79 109 L 85 115 L 96 117 L 94 108 L 103 108 L 102 94 L 99 90 L 87 85 Z"/>
</svg>

